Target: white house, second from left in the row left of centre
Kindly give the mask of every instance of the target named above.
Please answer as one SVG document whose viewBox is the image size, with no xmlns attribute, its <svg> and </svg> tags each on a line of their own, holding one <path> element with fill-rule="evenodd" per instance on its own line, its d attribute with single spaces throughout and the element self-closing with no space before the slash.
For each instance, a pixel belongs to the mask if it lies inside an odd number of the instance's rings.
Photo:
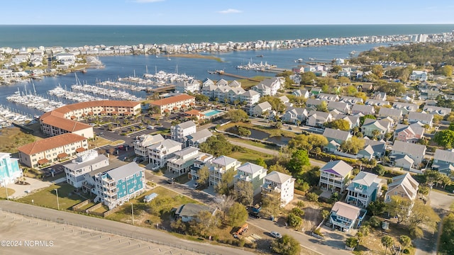
<svg viewBox="0 0 454 255">
<path fill-rule="evenodd" d="M 148 147 L 148 163 L 153 164 L 153 169 L 160 169 L 173 157 L 175 152 L 182 149 L 182 144 L 166 139 Z"/>
</svg>

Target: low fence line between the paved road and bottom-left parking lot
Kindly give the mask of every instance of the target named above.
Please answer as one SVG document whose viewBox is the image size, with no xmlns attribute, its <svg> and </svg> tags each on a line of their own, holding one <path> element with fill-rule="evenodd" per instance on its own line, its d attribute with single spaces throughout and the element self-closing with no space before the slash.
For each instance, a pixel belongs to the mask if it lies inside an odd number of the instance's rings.
<svg viewBox="0 0 454 255">
<path fill-rule="evenodd" d="M 90 229 L 90 230 L 99 231 L 99 232 L 103 232 L 103 233 L 107 233 L 107 234 L 116 234 L 116 235 L 121 236 L 121 237 L 126 237 L 126 238 L 135 239 L 135 240 L 140 240 L 140 241 L 143 241 L 143 242 L 149 242 L 149 243 L 152 243 L 152 244 L 160 244 L 160 245 L 169 246 L 169 247 L 173 247 L 173 248 L 177 248 L 177 249 L 183 249 L 185 251 L 192 251 L 192 252 L 195 252 L 195 253 L 198 253 L 198 254 L 221 255 L 221 254 L 216 254 L 216 253 L 211 252 L 211 251 L 205 251 L 205 250 L 202 250 L 202 249 L 194 249 L 192 247 L 188 247 L 188 246 L 184 246 L 184 245 L 180 245 L 180 244 L 173 244 L 173 243 L 170 243 L 170 242 L 161 242 L 161 241 L 158 241 L 158 240 L 155 240 L 155 239 L 138 237 L 138 236 L 135 236 L 133 234 L 126 234 L 126 233 L 123 233 L 123 232 L 117 232 L 117 231 L 113 231 L 113 230 L 110 230 L 110 229 L 102 229 L 102 228 L 98 228 L 98 227 L 92 227 L 92 226 L 88 226 L 88 225 L 83 225 L 82 223 L 67 222 L 67 221 L 65 221 L 65 220 L 63 220 L 61 218 L 54 219 L 54 218 L 50 218 L 50 217 L 43 217 L 43 216 L 39 216 L 39 215 L 33 215 L 33 214 L 26 213 L 26 212 L 17 212 L 17 211 L 14 211 L 14 210 L 8 210 L 8 209 L 0 208 L 0 212 L 2 212 L 2 211 L 3 212 L 14 213 L 16 215 L 23 215 L 23 216 L 26 216 L 26 217 L 32 217 L 32 218 L 38 219 L 38 220 L 45 220 L 45 221 L 48 221 L 48 222 L 56 222 L 56 223 L 59 223 L 59 224 L 64 224 L 64 225 L 68 225 L 68 226 L 72 226 L 72 227 L 82 227 L 84 229 Z"/>
</svg>

